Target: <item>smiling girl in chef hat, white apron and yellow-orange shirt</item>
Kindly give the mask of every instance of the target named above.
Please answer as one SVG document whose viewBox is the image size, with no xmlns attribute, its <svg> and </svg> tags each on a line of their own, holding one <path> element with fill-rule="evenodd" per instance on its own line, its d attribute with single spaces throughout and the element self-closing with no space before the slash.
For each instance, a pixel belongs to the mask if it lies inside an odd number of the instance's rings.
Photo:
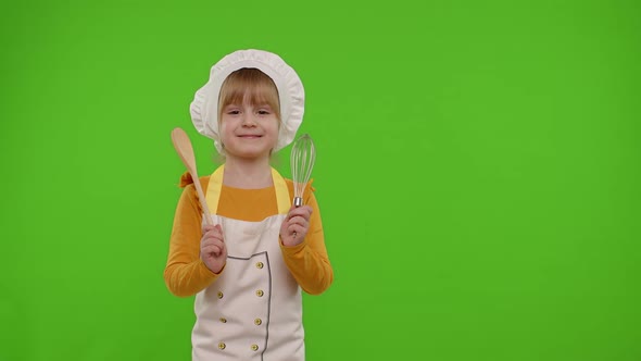
<svg viewBox="0 0 641 361">
<path fill-rule="evenodd" d="M 213 214 L 183 176 L 164 272 L 174 295 L 196 295 L 193 360 L 304 360 L 301 289 L 322 294 L 334 272 L 313 188 L 290 206 L 293 183 L 269 165 L 303 110 L 297 73 L 261 50 L 226 55 L 196 92 L 193 125 L 226 160 L 196 179 Z"/>
</svg>

